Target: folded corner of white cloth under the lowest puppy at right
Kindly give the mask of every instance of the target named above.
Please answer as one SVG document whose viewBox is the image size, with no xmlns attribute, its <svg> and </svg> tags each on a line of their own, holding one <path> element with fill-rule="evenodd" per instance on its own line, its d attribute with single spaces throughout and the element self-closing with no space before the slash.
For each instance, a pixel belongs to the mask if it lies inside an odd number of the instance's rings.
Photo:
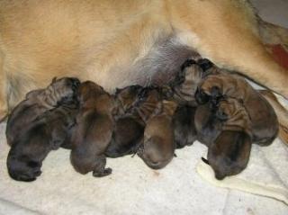
<svg viewBox="0 0 288 215">
<path fill-rule="evenodd" d="M 197 165 L 197 173 L 207 182 L 229 189 L 263 195 L 282 201 L 288 205 L 287 159 L 288 148 L 275 139 L 266 148 L 254 145 L 247 169 L 239 175 L 229 176 L 224 180 L 217 180 L 211 166 L 204 162 Z"/>
</svg>

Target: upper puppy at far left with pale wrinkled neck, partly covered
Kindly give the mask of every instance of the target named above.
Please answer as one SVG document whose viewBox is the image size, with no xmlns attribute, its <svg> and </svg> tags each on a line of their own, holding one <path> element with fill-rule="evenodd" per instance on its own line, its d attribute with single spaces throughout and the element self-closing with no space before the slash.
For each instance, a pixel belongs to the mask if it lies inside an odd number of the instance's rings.
<svg viewBox="0 0 288 215">
<path fill-rule="evenodd" d="M 47 112 L 59 103 L 73 101 L 80 81 L 74 77 L 54 78 L 45 89 L 31 91 L 25 100 L 19 103 L 8 117 L 6 139 L 9 146 L 22 139 L 22 136 L 43 112 Z"/>
</svg>

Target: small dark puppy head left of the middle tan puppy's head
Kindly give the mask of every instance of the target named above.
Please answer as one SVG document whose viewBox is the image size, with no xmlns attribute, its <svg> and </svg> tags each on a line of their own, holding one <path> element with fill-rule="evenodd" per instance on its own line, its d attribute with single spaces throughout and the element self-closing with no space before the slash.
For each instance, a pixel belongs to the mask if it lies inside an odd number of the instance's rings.
<svg viewBox="0 0 288 215">
<path fill-rule="evenodd" d="M 138 94 L 142 90 L 140 85 L 130 85 L 122 89 L 116 89 L 115 98 L 119 103 L 121 112 L 128 112 L 137 101 Z"/>
</svg>

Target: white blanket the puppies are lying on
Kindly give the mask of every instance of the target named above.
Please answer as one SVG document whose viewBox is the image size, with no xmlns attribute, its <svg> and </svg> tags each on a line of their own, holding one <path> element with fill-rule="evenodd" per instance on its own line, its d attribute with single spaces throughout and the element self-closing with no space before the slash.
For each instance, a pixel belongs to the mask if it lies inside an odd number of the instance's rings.
<svg viewBox="0 0 288 215">
<path fill-rule="evenodd" d="M 177 150 L 177 157 L 160 171 L 149 169 L 139 157 L 108 159 L 113 172 L 103 178 L 76 174 L 69 151 L 59 149 L 46 158 L 35 182 L 16 182 L 6 170 L 9 147 L 4 126 L 0 124 L 0 214 L 288 214 L 284 202 L 202 180 L 196 166 L 207 148 L 198 142 Z M 287 166 L 288 148 L 283 143 L 254 146 L 241 175 L 287 192 Z"/>
</svg>

